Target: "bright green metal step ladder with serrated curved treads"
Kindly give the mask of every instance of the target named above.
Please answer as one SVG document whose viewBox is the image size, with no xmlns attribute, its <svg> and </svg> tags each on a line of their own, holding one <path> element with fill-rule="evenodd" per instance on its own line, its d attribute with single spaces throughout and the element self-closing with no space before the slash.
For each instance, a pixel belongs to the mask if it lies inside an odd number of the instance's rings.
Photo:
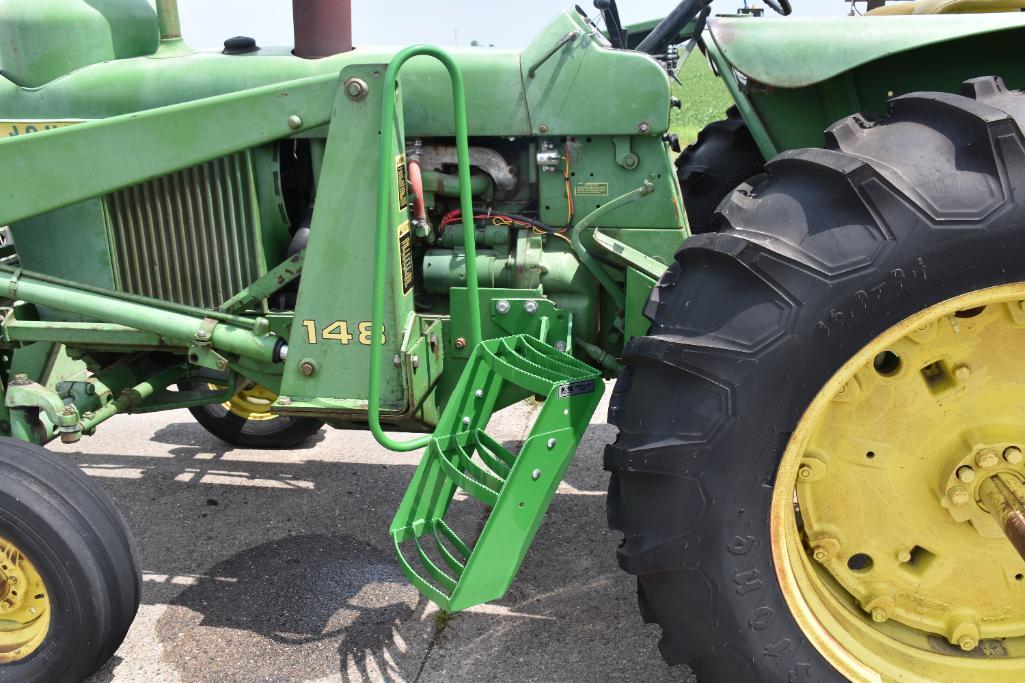
<svg viewBox="0 0 1025 683">
<path fill-rule="evenodd" d="M 519 454 L 485 432 L 506 384 L 545 399 Z M 392 522 L 420 593 L 446 611 L 505 594 L 603 390 L 598 370 L 533 336 L 476 347 Z M 445 522 L 458 490 L 490 508 L 473 547 Z"/>
</svg>

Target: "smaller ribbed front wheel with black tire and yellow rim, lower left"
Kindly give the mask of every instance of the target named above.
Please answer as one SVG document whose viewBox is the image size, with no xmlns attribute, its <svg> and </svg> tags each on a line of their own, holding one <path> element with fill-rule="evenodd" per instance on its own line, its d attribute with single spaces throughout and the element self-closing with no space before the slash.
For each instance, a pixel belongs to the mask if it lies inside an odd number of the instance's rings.
<svg viewBox="0 0 1025 683">
<path fill-rule="evenodd" d="M 86 475 L 0 438 L 0 681 L 81 681 L 124 640 L 140 575 L 124 519 Z"/>
</svg>

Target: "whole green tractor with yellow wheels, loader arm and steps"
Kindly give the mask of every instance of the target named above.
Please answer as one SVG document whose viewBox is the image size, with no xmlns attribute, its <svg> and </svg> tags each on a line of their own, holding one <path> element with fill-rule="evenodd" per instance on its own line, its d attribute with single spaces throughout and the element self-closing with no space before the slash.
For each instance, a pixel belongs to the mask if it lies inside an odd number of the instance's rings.
<svg viewBox="0 0 1025 683">
<path fill-rule="evenodd" d="M 389 532 L 454 611 L 508 589 L 612 378 L 670 665 L 1022 680 L 1025 3 L 709 5 L 446 51 L 294 0 L 293 47 L 196 51 L 174 0 L 0 0 L 0 680 L 82 679 L 139 602 L 52 440 L 189 408 L 422 449 Z M 675 161 L 687 55 L 735 109 Z M 488 423 L 528 398 L 514 452 Z"/>
</svg>

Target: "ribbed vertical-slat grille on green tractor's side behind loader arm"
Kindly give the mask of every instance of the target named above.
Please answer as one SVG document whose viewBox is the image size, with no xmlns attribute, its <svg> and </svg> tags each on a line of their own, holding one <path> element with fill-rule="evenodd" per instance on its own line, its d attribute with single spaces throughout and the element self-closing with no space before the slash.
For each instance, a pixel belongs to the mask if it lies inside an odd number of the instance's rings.
<svg viewBox="0 0 1025 683">
<path fill-rule="evenodd" d="M 121 289 L 215 308 L 262 274 L 247 152 L 106 199 Z"/>
</svg>

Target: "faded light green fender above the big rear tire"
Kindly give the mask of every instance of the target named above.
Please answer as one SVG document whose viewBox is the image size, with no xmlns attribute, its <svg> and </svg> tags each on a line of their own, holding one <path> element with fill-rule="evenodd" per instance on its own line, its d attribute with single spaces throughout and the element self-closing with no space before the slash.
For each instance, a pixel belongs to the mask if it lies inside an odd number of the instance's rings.
<svg viewBox="0 0 1025 683">
<path fill-rule="evenodd" d="M 1025 13 L 850 18 L 719 17 L 712 40 L 738 72 L 778 88 L 799 88 L 926 45 L 999 31 L 1025 33 Z"/>
</svg>

